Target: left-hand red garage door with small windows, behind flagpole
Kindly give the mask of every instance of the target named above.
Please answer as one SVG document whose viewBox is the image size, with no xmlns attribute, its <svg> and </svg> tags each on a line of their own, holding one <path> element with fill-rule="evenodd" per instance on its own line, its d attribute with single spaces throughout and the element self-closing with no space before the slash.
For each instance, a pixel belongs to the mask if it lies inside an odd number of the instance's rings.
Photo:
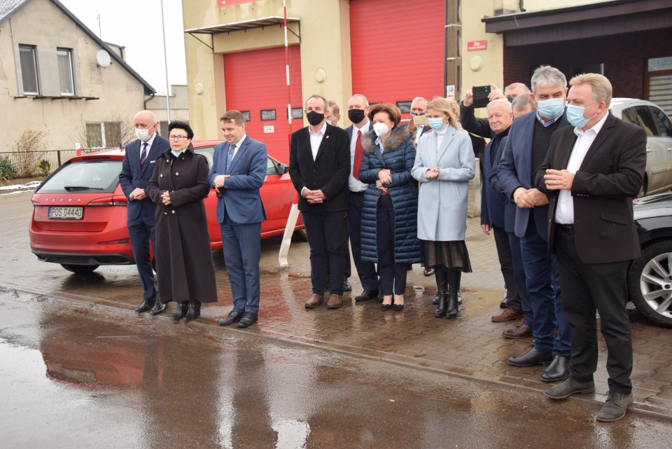
<svg viewBox="0 0 672 449">
<path fill-rule="evenodd" d="M 290 46 L 290 78 L 292 106 L 302 109 L 300 46 Z M 269 156 L 288 163 L 285 49 L 267 48 L 224 55 L 224 83 L 226 109 L 248 111 L 247 134 L 264 142 Z M 262 114 L 265 120 L 262 120 Z M 302 127 L 302 119 L 293 120 L 293 131 Z"/>
</svg>

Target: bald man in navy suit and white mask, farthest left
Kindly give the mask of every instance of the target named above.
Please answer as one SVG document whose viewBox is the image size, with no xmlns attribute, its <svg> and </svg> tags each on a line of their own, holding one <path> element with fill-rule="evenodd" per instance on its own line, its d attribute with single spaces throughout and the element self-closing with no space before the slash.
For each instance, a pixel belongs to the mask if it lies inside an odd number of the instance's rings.
<svg viewBox="0 0 672 449">
<path fill-rule="evenodd" d="M 157 132 L 158 125 L 153 112 L 140 111 L 135 114 L 133 122 L 138 139 L 126 146 L 119 184 L 128 199 L 126 223 L 143 290 L 143 301 L 135 311 L 151 310 L 152 315 L 158 315 L 165 312 L 167 304 L 159 300 L 159 294 L 154 287 L 149 244 L 151 242 L 154 251 L 155 204 L 147 197 L 145 188 L 152 177 L 155 161 L 170 148 L 170 142 Z"/>
</svg>

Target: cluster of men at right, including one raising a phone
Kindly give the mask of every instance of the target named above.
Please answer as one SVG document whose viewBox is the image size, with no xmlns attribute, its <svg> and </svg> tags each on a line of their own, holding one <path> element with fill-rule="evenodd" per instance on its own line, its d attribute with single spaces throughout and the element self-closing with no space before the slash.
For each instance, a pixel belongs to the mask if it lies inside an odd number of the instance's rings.
<svg viewBox="0 0 672 449">
<path fill-rule="evenodd" d="M 491 86 L 488 119 L 461 103 L 465 130 L 489 137 L 481 226 L 493 231 L 507 296 L 493 322 L 520 319 L 505 338 L 533 337 L 512 366 L 548 364 L 551 399 L 595 391 L 596 312 L 608 358 L 609 392 L 599 421 L 632 403 L 632 343 L 626 272 L 640 256 L 632 198 L 643 181 L 645 132 L 610 115 L 612 85 L 601 74 L 570 80 L 538 67 L 531 91 Z M 489 125 L 486 126 L 486 125 Z"/>
</svg>

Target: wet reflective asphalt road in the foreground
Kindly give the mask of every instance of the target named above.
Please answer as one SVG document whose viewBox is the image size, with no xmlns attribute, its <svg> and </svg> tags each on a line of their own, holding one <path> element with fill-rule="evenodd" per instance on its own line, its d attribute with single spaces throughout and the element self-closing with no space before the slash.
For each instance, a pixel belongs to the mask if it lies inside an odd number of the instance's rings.
<svg viewBox="0 0 672 449">
<path fill-rule="evenodd" d="M 667 420 L 0 289 L 0 448 L 668 448 Z"/>
</svg>

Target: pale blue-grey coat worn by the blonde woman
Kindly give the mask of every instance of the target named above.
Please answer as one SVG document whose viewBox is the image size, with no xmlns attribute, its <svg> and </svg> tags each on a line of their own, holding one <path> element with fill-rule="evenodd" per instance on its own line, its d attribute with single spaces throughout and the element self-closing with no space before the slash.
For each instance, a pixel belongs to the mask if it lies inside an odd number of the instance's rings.
<svg viewBox="0 0 672 449">
<path fill-rule="evenodd" d="M 435 242 L 464 240 L 467 228 L 469 180 L 476 173 L 469 134 L 448 125 L 437 151 L 436 132 L 418 142 L 411 174 L 419 181 L 418 238 Z M 427 179 L 430 168 L 439 167 L 439 177 Z"/>
</svg>

